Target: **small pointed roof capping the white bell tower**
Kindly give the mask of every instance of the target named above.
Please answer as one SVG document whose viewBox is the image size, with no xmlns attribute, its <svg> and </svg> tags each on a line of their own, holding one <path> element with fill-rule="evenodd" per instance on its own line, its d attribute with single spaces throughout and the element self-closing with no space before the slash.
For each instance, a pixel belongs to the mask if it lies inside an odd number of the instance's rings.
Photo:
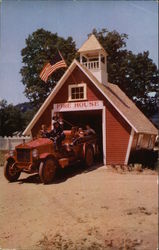
<svg viewBox="0 0 159 250">
<path fill-rule="evenodd" d="M 102 47 L 102 45 L 99 43 L 99 41 L 97 40 L 97 38 L 95 37 L 94 34 L 92 34 L 82 45 L 82 47 L 78 50 L 79 53 L 81 52 L 90 52 L 90 51 L 94 51 L 94 50 L 102 50 L 105 54 L 106 51 L 105 49 Z"/>
</svg>

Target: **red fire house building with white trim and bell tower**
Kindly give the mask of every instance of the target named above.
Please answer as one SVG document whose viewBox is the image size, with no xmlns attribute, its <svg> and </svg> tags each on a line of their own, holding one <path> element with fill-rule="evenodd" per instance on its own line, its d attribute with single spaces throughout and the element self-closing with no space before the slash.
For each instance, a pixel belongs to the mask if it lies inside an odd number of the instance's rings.
<svg viewBox="0 0 159 250">
<path fill-rule="evenodd" d="M 94 35 L 78 51 L 24 134 L 52 127 L 55 112 L 74 125 L 90 124 L 100 138 L 104 164 L 127 164 L 131 150 L 153 148 L 157 129 L 115 84 L 108 82 L 107 53 Z M 67 124 L 64 124 L 68 129 Z"/>
</svg>

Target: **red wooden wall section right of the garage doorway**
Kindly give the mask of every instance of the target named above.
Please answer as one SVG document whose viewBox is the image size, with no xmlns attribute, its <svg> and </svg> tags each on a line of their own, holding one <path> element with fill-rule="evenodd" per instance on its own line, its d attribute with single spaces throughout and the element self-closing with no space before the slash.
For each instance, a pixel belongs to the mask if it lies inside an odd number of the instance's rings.
<svg viewBox="0 0 159 250">
<path fill-rule="evenodd" d="M 119 113 L 106 105 L 106 161 L 107 164 L 124 164 L 131 128 Z"/>
</svg>

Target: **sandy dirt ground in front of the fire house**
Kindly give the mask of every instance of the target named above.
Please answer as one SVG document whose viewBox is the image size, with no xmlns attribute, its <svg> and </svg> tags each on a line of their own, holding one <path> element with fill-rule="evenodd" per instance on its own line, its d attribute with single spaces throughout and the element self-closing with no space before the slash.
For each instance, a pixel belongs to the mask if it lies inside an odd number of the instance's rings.
<svg viewBox="0 0 159 250">
<path fill-rule="evenodd" d="M 158 245 L 158 175 L 68 168 L 54 183 L 0 168 L 0 249 L 140 249 Z"/>
</svg>

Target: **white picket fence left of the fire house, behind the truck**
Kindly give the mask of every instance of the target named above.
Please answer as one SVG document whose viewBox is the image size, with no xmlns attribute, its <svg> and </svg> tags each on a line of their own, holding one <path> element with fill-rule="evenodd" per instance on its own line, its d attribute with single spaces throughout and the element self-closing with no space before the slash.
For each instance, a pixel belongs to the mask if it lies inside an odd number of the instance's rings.
<svg viewBox="0 0 159 250">
<path fill-rule="evenodd" d="M 30 136 L 5 136 L 1 137 L 0 136 L 0 150 L 13 150 L 15 146 L 18 144 L 23 143 L 23 141 L 30 141 L 31 137 Z"/>
</svg>

